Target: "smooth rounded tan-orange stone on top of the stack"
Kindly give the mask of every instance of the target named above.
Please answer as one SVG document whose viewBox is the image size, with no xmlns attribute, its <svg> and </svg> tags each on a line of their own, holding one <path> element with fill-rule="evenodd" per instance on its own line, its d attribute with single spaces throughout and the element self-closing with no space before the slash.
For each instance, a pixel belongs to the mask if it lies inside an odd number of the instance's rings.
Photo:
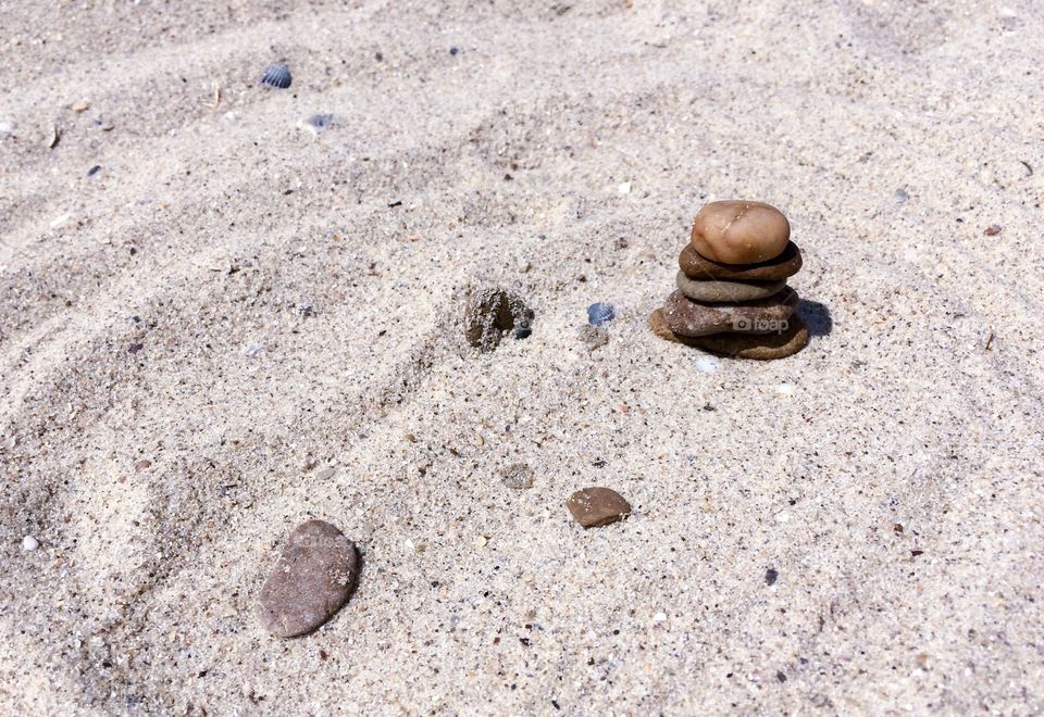
<svg viewBox="0 0 1044 717">
<path fill-rule="evenodd" d="M 693 222 L 693 248 L 712 262 L 767 262 L 779 256 L 790 240 L 790 222 L 765 202 L 711 202 Z"/>
</svg>

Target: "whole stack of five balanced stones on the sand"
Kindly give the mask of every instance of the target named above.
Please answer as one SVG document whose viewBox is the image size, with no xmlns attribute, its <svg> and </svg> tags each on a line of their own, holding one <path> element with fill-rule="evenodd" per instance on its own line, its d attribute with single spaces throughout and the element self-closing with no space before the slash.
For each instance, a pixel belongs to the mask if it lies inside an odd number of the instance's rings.
<svg viewBox="0 0 1044 717">
<path fill-rule="evenodd" d="M 808 343 L 797 293 L 786 286 L 801 252 L 774 206 L 707 204 L 678 263 L 678 291 L 649 317 L 658 336 L 738 358 L 782 358 Z"/>
</svg>

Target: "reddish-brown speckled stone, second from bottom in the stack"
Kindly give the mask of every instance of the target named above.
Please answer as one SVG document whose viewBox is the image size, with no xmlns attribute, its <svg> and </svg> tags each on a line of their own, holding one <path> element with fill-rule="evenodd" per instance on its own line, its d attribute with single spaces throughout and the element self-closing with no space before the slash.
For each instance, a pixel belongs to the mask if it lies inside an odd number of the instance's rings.
<svg viewBox="0 0 1044 717">
<path fill-rule="evenodd" d="M 723 331 L 770 334 L 785 328 L 797 304 L 797 292 L 790 287 L 768 299 L 729 304 L 705 304 L 675 291 L 663 303 L 663 319 L 674 334 L 682 336 Z"/>
</svg>

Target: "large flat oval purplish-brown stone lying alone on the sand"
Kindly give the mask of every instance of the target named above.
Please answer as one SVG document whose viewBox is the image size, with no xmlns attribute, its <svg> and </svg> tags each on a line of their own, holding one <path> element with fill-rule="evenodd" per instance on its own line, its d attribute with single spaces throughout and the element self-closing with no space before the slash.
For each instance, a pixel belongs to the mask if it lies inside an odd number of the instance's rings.
<svg viewBox="0 0 1044 717">
<path fill-rule="evenodd" d="M 328 523 L 303 523 L 261 588 L 258 617 L 279 638 L 311 632 L 348 602 L 358 577 L 355 544 Z"/>
</svg>

